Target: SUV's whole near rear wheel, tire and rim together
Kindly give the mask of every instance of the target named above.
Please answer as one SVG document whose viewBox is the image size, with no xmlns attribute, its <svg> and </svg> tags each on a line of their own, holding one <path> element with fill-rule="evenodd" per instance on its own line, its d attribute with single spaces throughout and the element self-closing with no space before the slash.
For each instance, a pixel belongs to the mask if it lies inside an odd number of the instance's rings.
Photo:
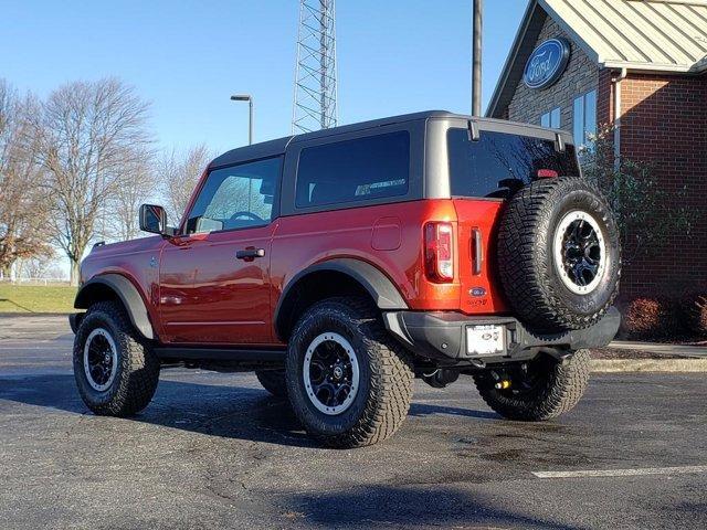
<svg viewBox="0 0 707 530">
<path fill-rule="evenodd" d="M 413 370 L 367 300 L 333 298 L 297 322 L 286 380 L 307 433 L 324 445 L 352 448 L 398 431 L 410 409 Z"/>
</svg>

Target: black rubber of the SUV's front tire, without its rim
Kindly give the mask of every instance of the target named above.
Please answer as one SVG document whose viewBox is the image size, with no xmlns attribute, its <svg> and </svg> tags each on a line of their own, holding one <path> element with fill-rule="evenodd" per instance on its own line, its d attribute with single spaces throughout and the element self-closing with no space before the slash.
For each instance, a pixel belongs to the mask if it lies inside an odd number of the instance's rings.
<svg viewBox="0 0 707 530">
<path fill-rule="evenodd" d="M 84 372 L 84 344 L 96 328 L 103 328 L 117 348 L 117 370 L 110 386 L 98 392 Z M 117 301 L 97 303 L 86 312 L 74 339 L 74 378 L 84 403 L 95 414 L 130 416 L 145 409 L 157 390 L 160 362 L 155 352 L 133 328 L 123 306 Z"/>
</svg>

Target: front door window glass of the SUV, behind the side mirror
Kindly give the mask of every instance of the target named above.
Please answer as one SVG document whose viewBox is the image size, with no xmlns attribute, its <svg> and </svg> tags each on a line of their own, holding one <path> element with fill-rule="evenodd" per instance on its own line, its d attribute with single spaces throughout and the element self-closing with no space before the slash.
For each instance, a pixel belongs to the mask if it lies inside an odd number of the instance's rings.
<svg viewBox="0 0 707 530">
<path fill-rule="evenodd" d="M 281 173 L 282 157 L 211 171 L 189 213 L 187 233 L 268 224 Z"/>
</svg>

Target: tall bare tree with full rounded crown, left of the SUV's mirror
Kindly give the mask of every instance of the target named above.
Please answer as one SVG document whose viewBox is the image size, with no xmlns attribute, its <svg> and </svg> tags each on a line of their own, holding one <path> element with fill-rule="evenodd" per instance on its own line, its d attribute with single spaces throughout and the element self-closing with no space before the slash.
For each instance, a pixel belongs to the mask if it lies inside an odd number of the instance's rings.
<svg viewBox="0 0 707 530">
<path fill-rule="evenodd" d="M 133 87 L 106 78 L 60 87 L 31 121 L 35 160 L 56 202 L 54 239 L 70 259 L 72 285 L 99 213 L 151 144 L 147 113 Z"/>
</svg>

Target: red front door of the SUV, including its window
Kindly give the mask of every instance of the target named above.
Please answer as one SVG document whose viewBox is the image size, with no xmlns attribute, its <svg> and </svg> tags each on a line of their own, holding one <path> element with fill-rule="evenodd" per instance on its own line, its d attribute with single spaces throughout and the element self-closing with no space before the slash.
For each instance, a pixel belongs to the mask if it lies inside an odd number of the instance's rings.
<svg viewBox="0 0 707 530">
<path fill-rule="evenodd" d="M 209 172 L 160 262 L 166 339 L 270 344 L 270 251 L 282 157 Z"/>
</svg>

